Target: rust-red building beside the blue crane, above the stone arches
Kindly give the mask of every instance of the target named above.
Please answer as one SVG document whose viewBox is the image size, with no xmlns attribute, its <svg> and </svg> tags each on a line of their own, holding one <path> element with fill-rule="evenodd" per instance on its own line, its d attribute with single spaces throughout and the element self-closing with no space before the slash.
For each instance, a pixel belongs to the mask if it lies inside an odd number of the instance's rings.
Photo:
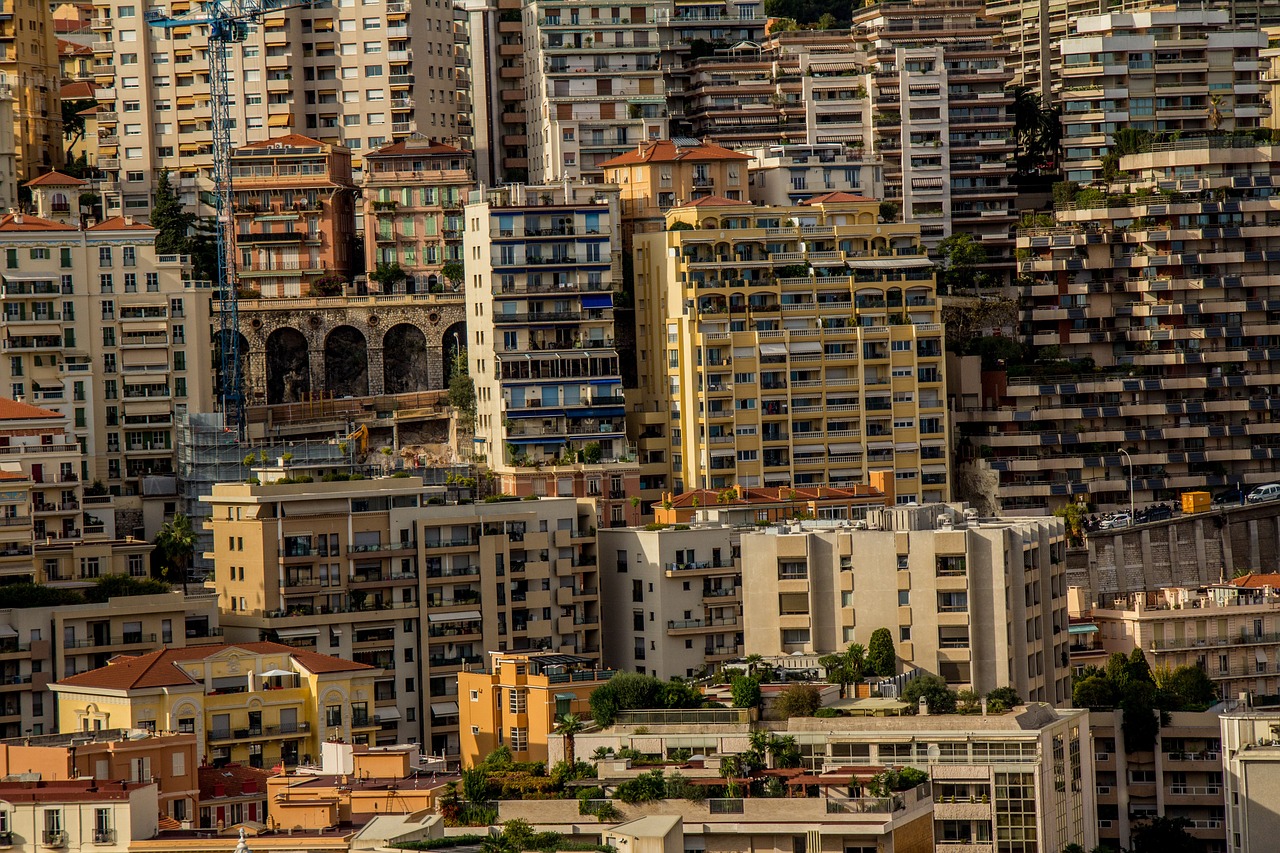
<svg viewBox="0 0 1280 853">
<path fill-rule="evenodd" d="M 232 152 L 232 186 L 241 287 L 335 296 L 362 270 L 348 149 L 298 133 L 251 142 Z"/>
</svg>

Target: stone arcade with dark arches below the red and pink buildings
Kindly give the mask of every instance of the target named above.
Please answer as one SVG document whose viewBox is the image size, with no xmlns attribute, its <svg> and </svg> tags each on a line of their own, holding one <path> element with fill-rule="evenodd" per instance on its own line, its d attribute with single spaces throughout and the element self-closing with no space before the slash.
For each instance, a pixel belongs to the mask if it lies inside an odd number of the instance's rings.
<svg viewBox="0 0 1280 853">
<path fill-rule="evenodd" d="M 452 293 L 242 300 L 239 328 L 251 406 L 433 391 L 466 346 L 466 302 Z"/>
</svg>

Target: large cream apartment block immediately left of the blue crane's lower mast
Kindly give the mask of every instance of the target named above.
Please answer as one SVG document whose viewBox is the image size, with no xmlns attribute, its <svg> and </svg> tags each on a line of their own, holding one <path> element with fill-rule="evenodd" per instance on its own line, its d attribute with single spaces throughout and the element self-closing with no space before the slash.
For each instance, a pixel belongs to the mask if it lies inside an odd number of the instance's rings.
<svg viewBox="0 0 1280 853">
<path fill-rule="evenodd" d="M 83 229 L 0 219 L 0 388 L 68 419 L 84 465 L 67 482 L 100 482 L 118 512 L 141 508 L 141 478 L 173 473 L 175 412 L 212 407 L 207 292 L 155 238 L 132 218 Z"/>
</svg>

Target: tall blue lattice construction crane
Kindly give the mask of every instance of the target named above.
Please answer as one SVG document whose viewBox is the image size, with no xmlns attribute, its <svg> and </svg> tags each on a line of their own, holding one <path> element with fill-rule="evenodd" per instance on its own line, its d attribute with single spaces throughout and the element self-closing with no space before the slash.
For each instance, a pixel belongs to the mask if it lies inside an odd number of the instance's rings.
<svg viewBox="0 0 1280 853">
<path fill-rule="evenodd" d="M 239 296 L 232 223 L 232 122 L 227 55 L 248 38 L 250 27 L 264 17 L 289 9 L 323 5 L 326 0 L 206 0 L 191 12 L 168 15 L 147 12 L 152 27 L 209 27 L 209 111 L 214 137 L 214 233 L 218 245 L 218 337 L 221 383 L 218 402 L 223 424 L 244 438 L 244 383 L 241 377 Z"/>
</svg>

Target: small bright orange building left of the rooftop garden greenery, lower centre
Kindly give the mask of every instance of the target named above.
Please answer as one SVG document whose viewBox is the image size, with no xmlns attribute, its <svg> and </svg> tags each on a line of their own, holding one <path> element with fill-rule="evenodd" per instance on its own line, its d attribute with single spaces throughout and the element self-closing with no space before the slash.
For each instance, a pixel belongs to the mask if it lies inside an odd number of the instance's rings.
<svg viewBox="0 0 1280 853">
<path fill-rule="evenodd" d="M 488 670 L 458 672 L 462 766 L 476 766 L 500 745 L 516 761 L 549 762 L 557 721 L 566 713 L 590 717 L 591 690 L 611 678 L 613 670 L 573 654 L 489 652 Z"/>
</svg>

